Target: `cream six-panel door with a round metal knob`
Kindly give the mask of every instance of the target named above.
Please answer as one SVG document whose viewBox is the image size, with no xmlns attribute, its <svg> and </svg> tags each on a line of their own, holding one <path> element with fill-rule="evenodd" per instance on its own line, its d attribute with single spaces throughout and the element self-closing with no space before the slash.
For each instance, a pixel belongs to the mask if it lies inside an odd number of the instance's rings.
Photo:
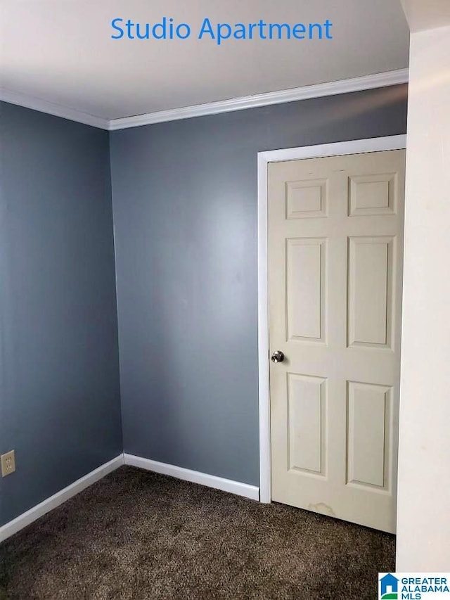
<svg viewBox="0 0 450 600">
<path fill-rule="evenodd" d="M 394 532 L 405 153 L 268 167 L 272 499 Z"/>
</svg>

